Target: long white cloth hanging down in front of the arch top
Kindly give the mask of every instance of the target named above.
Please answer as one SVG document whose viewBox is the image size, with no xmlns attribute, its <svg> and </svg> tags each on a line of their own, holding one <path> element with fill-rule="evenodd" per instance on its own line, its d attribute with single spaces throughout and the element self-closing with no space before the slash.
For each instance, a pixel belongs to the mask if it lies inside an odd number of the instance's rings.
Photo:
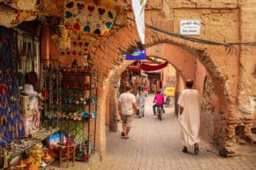
<svg viewBox="0 0 256 170">
<path fill-rule="evenodd" d="M 144 8 L 147 0 L 132 0 L 133 13 L 135 15 L 137 31 L 142 43 L 145 44 L 145 22 L 144 22 Z"/>
</svg>

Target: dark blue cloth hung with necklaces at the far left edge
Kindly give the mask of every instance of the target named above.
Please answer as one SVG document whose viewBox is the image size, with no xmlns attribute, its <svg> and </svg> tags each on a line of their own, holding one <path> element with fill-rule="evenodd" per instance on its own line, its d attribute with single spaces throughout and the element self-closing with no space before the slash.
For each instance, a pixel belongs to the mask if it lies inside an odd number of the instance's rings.
<svg viewBox="0 0 256 170">
<path fill-rule="evenodd" d="M 0 144 L 24 135 L 19 111 L 14 39 L 12 30 L 0 26 L 0 87 L 7 88 L 6 91 L 0 90 Z"/>
</svg>

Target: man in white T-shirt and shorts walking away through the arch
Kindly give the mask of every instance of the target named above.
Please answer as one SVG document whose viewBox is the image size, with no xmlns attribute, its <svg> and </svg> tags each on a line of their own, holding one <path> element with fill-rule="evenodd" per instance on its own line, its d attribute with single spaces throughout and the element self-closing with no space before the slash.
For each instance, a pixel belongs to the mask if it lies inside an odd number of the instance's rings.
<svg viewBox="0 0 256 170">
<path fill-rule="evenodd" d="M 134 112 L 135 110 L 135 112 Z M 119 96 L 119 115 L 123 121 L 123 132 L 125 139 L 130 139 L 128 134 L 131 129 L 132 115 L 137 112 L 137 103 L 134 94 L 131 94 L 131 86 L 125 87 L 125 92 Z"/>
</svg>

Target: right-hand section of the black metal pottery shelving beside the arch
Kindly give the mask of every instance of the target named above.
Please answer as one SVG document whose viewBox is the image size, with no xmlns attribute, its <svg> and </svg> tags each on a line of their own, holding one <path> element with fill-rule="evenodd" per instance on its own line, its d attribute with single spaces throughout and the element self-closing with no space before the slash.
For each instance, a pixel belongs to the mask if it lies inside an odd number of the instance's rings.
<svg viewBox="0 0 256 170">
<path fill-rule="evenodd" d="M 62 72 L 61 118 L 67 122 L 68 135 L 75 135 L 80 145 L 86 148 L 87 157 L 78 161 L 88 161 L 96 143 L 96 74 Z M 73 123 L 73 127 L 70 124 Z M 61 122 L 62 125 L 62 122 Z M 64 126 L 65 127 L 65 126 Z M 82 152 L 81 148 L 78 150 Z"/>
</svg>

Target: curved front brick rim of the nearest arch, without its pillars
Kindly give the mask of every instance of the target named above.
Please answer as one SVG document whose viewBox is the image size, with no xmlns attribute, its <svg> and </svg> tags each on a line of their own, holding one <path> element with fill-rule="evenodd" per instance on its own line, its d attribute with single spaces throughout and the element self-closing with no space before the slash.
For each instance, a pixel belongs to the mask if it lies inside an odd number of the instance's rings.
<svg viewBox="0 0 256 170">
<path fill-rule="evenodd" d="M 183 48 L 188 54 L 195 56 L 205 65 L 207 71 L 209 71 L 213 82 L 215 82 L 214 85 L 216 85 L 218 89 L 221 89 L 218 95 L 229 94 L 228 92 L 224 92 L 223 74 L 218 70 L 218 66 L 215 64 L 210 54 L 207 53 L 204 45 L 188 42 L 152 30 L 146 30 L 146 36 L 146 48 L 161 43 L 172 44 L 173 47 Z M 111 37 L 103 37 L 95 42 L 95 46 L 90 49 L 90 54 L 93 63 L 96 65 L 96 70 L 99 73 L 99 79 L 101 81 L 108 80 L 109 71 L 121 65 L 124 62 L 123 55 L 134 50 L 138 42 L 140 42 L 140 40 L 137 35 L 136 25 L 130 20 L 128 20 L 126 26 L 119 31 L 113 31 Z M 221 100 L 225 103 L 224 97 L 221 98 Z"/>
</svg>

